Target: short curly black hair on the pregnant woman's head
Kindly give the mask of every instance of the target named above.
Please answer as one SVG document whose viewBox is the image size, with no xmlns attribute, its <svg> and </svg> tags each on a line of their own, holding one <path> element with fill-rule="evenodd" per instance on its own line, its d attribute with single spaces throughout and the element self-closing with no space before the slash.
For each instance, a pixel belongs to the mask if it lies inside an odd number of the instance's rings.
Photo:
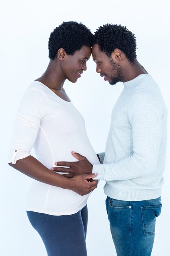
<svg viewBox="0 0 170 256">
<path fill-rule="evenodd" d="M 66 54 L 73 55 L 83 46 L 93 45 L 93 34 L 84 24 L 75 21 L 63 22 L 49 37 L 49 58 L 54 60 L 57 51 L 63 48 Z"/>
</svg>

